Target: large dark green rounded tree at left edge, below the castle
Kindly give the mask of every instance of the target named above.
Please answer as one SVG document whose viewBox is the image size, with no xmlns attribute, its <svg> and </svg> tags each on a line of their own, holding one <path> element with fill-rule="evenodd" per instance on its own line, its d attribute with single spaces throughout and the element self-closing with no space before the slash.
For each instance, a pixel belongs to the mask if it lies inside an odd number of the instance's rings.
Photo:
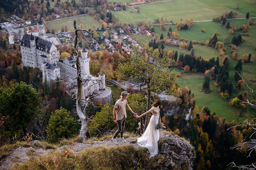
<svg viewBox="0 0 256 170">
<path fill-rule="evenodd" d="M 14 84 L 12 88 L 1 88 L 0 117 L 8 116 L 1 131 L 6 132 L 10 137 L 16 136 L 15 134 L 19 137 L 21 131 L 26 135 L 27 126 L 33 123 L 41 112 L 40 105 L 41 99 L 32 85 L 20 82 Z"/>
</svg>

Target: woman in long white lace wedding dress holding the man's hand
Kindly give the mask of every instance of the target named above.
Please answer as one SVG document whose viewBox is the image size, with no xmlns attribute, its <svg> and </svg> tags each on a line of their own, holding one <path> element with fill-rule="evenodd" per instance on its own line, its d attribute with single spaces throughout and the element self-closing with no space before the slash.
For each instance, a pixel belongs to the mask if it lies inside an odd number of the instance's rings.
<svg viewBox="0 0 256 170">
<path fill-rule="evenodd" d="M 141 118 L 142 116 L 153 113 L 149 120 L 149 125 L 147 126 L 145 132 L 137 139 L 137 144 L 141 147 L 144 147 L 149 150 L 150 157 L 153 157 L 158 154 L 158 140 L 159 140 L 159 130 L 156 129 L 158 121 L 161 122 L 160 118 L 160 109 L 159 106 L 162 105 L 161 100 L 157 100 L 152 104 L 149 111 L 143 113 L 141 116 L 136 116 L 136 118 Z"/>
</svg>

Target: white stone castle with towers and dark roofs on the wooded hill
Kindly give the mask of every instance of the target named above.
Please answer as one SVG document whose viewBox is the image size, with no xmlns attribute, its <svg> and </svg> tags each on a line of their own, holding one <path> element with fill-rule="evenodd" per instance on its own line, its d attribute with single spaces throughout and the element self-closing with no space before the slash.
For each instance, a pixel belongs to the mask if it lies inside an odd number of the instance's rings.
<svg viewBox="0 0 256 170">
<path fill-rule="evenodd" d="M 76 61 L 74 57 L 68 57 L 64 60 L 59 57 L 57 47 L 46 40 L 44 24 L 41 19 L 37 23 L 39 29 L 38 36 L 24 34 L 20 40 L 20 49 L 22 54 L 22 65 L 36 68 L 42 71 L 42 81 L 50 82 L 61 78 L 61 72 L 71 73 L 76 76 Z M 81 76 L 86 82 L 82 87 L 82 98 L 87 99 L 89 96 L 96 95 L 96 99 L 100 99 L 102 103 L 111 102 L 111 90 L 105 87 L 105 75 L 90 75 L 90 57 L 88 51 L 83 49 L 79 58 L 81 64 Z M 61 69 L 60 69 L 61 68 Z M 104 94 L 103 94 L 104 92 Z"/>
</svg>

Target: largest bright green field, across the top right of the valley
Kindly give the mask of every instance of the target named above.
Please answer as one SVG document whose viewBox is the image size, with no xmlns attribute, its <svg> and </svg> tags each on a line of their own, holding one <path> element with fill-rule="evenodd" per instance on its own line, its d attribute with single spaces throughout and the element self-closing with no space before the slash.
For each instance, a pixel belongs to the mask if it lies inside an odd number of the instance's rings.
<svg viewBox="0 0 256 170">
<path fill-rule="evenodd" d="M 172 20 L 173 22 L 177 22 L 180 21 L 180 17 L 182 17 L 183 20 L 192 18 L 194 21 L 202 21 L 211 20 L 212 17 L 217 17 L 225 12 L 230 12 L 232 8 L 236 7 L 236 3 L 231 2 L 231 0 L 228 1 L 228 3 L 224 3 L 223 5 L 222 2 L 214 2 L 216 5 L 211 7 L 207 4 L 208 1 L 200 2 L 198 0 L 173 0 L 163 3 L 141 5 L 139 6 L 139 9 L 143 14 L 152 20 L 166 17 L 169 21 Z M 241 2 L 242 0 L 239 1 Z M 229 7 L 227 4 L 231 4 L 232 6 Z M 256 7 L 251 7 L 248 5 L 248 3 L 246 5 L 246 9 L 247 7 L 251 9 L 251 11 L 256 9 Z M 244 12 L 242 12 L 242 14 L 240 14 L 239 11 L 236 12 L 238 13 L 237 17 L 245 17 Z"/>
</svg>

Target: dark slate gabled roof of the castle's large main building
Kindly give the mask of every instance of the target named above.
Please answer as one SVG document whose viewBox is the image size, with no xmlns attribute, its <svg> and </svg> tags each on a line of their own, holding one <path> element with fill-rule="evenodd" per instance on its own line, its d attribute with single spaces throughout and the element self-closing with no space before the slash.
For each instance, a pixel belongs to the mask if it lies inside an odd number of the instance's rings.
<svg viewBox="0 0 256 170">
<path fill-rule="evenodd" d="M 21 45 L 24 47 L 30 47 L 30 40 L 32 40 L 31 38 L 35 38 L 36 40 L 36 49 L 41 50 L 43 52 L 47 52 L 47 53 L 50 52 L 50 49 L 53 43 L 29 34 L 24 34 L 21 40 Z"/>
</svg>

